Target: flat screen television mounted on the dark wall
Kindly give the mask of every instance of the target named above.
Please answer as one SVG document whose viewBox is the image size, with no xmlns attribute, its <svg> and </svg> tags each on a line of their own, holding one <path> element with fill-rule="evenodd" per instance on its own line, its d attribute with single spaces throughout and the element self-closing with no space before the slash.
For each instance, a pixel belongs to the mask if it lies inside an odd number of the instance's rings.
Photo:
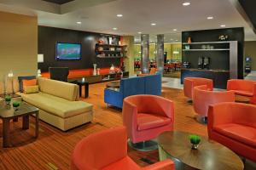
<svg viewBox="0 0 256 170">
<path fill-rule="evenodd" d="M 81 44 L 57 42 L 55 53 L 55 59 L 57 60 L 81 59 Z"/>
</svg>

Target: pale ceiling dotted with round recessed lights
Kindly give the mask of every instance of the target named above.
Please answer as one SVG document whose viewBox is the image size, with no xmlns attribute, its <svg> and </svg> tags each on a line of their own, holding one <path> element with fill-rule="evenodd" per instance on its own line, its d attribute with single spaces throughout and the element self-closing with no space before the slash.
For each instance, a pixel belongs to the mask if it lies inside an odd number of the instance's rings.
<svg viewBox="0 0 256 170">
<path fill-rule="evenodd" d="M 187 7 L 183 0 L 74 0 L 62 5 L 42 0 L 0 0 L 0 10 L 37 15 L 40 26 L 132 35 L 136 39 L 140 37 L 137 32 L 143 32 L 151 35 L 151 41 L 155 35 L 165 34 L 166 42 L 179 42 L 181 31 L 241 26 L 245 27 L 246 40 L 256 41 L 252 27 L 231 3 L 237 0 L 186 1 L 191 3 Z M 207 20 L 207 16 L 214 19 Z"/>
</svg>

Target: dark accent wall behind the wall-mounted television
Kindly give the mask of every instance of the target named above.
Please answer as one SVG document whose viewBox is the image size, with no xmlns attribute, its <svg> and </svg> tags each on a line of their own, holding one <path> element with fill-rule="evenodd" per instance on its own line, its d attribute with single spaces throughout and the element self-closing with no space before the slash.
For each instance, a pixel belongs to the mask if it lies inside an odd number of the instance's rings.
<svg viewBox="0 0 256 170">
<path fill-rule="evenodd" d="M 119 65 L 120 59 L 96 57 L 95 45 L 101 37 L 101 33 L 38 26 L 38 54 L 44 54 L 44 63 L 38 63 L 38 69 L 44 72 L 49 70 L 49 66 L 67 66 L 70 70 L 76 70 L 93 68 L 94 63 L 100 68 Z M 56 60 L 56 42 L 81 43 L 82 59 Z"/>
</svg>

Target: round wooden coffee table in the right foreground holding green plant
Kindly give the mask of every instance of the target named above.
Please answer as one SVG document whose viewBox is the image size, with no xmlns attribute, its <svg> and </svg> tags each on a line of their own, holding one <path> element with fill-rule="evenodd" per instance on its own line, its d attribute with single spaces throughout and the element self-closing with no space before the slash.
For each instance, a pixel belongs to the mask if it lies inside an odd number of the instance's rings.
<svg viewBox="0 0 256 170">
<path fill-rule="evenodd" d="M 201 137 L 198 150 L 192 150 L 189 141 L 191 133 L 169 131 L 158 137 L 160 161 L 171 158 L 176 169 L 242 170 L 239 156 L 205 137 Z"/>
</svg>

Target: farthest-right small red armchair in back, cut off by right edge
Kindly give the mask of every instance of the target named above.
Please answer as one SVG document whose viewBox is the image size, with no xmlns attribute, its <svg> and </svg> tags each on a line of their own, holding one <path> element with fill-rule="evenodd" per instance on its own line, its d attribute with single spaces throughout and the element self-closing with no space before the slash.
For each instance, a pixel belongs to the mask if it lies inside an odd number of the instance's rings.
<svg viewBox="0 0 256 170">
<path fill-rule="evenodd" d="M 228 81 L 227 90 L 235 94 L 246 96 L 251 103 L 256 104 L 256 82 L 251 80 L 231 79 Z"/>
</svg>

